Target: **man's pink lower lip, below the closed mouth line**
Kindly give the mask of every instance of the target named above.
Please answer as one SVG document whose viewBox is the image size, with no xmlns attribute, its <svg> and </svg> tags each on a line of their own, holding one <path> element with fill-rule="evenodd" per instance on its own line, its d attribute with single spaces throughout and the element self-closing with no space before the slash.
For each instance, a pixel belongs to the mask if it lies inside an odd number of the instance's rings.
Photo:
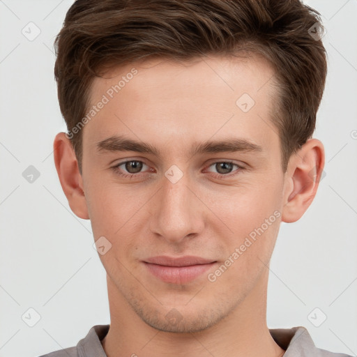
<svg viewBox="0 0 357 357">
<path fill-rule="evenodd" d="M 195 280 L 199 277 L 199 275 L 208 271 L 208 269 L 212 268 L 215 262 L 191 266 L 163 266 L 146 263 L 145 261 L 144 264 L 146 265 L 146 268 L 149 269 L 150 273 L 164 282 L 172 284 L 185 284 Z"/>
</svg>

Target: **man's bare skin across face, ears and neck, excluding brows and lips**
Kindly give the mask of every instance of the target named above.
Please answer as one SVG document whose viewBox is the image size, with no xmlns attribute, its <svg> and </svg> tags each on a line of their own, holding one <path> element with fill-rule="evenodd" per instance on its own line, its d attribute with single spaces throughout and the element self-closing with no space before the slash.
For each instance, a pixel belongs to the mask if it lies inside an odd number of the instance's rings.
<svg viewBox="0 0 357 357">
<path fill-rule="evenodd" d="M 281 356 L 284 349 L 266 325 L 268 265 L 280 222 L 301 218 L 314 199 L 319 180 L 311 172 L 321 176 L 324 146 L 308 139 L 282 172 L 279 137 L 269 117 L 274 72 L 258 56 L 131 63 L 94 80 L 91 105 L 133 67 L 137 75 L 82 129 L 82 175 L 66 135 L 60 132 L 54 140 L 56 170 L 70 208 L 91 220 L 95 240 L 105 236 L 112 244 L 99 255 L 111 316 L 102 340 L 105 353 Z M 246 113 L 236 105 L 243 93 L 255 100 Z M 112 135 L 147 142 L 161 155 L 97 151 L 96 143 Z M 262 150 L 190 154 L 192 144 L 228 137 Z M 112 169 L 128 159 L 145 164 L 136 178 Z M 214 165 L 227 160 L 245 169 L 225 179 L 240 170 L 233 165 L 225 174 Z M 165 176 L 172 165 L 183 172 L 176 183 Z M 128 170 L 121 165 L 121 172 Z M 208 273 L 274 211 L 280 217 L 210 282 Z M 192 282 L 169 284 L 142 263 L 157 255 L 196 255 L 217 263 Z M 169 312 L 176 320 L 167 319 Z"/>
</svg>

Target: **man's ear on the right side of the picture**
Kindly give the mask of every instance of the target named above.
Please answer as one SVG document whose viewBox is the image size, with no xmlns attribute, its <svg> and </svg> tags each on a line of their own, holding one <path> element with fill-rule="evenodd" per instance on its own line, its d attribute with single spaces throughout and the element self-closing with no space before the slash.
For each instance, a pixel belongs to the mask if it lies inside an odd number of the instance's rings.
<svg viewBox="0 0 357 357">
<path fill-rule="evenodd" d="M 324 145 L 318 139 L 307 139 L 291 155 L 284 179 L 282 222 L 296 222 L 305 213 L 316 195 L 324 165 Z"/>
</svg>

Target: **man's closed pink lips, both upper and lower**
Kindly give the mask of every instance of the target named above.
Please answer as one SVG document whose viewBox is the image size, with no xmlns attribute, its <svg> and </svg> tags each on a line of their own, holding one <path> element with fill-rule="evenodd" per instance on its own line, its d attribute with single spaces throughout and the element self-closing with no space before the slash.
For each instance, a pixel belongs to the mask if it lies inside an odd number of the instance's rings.
<svg viewBox="0 0 357 357">
<path fill-rule="evenodd" d="M 185 256 L 152 257 L 143 261 L 147 270 L 163 282 L 171 284 L 186 284 L 212 268 L 217 261 L 201 257 Z"/>
</svg>

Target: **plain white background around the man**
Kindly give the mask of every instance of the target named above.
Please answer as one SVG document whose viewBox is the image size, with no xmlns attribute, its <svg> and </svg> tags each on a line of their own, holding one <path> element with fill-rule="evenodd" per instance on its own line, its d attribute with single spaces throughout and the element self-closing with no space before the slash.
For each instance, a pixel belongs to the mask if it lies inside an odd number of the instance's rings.
<svg viewBox="0 0 357 357">
<path fill-rule="evenodd" d="M 0 357 L 75 346 L 91 326 L 109 324 L 91 225 L 70 211 L 52 153 L 54 135 L 66 128 L 53 41 L 72 2 L 0 0 Z M 356 356 L 357 1 L 305 2 L 327 31 L 328 79 L 314 135 L 325 145 L 326 177 L 303 218 L 280 228 L 268 326 L 305 326 L 318 347 Z M 33 41 L 22 34 L 29 22 L 41 31 Z M 33 183 L 22 176 L 29 165 L 40 172 Z M 30 307 L 40 314 L 33 327 L 22 320 Z M 319 327 L 307 319 L 315 307 L 327 316 Z"/>
</svg>

